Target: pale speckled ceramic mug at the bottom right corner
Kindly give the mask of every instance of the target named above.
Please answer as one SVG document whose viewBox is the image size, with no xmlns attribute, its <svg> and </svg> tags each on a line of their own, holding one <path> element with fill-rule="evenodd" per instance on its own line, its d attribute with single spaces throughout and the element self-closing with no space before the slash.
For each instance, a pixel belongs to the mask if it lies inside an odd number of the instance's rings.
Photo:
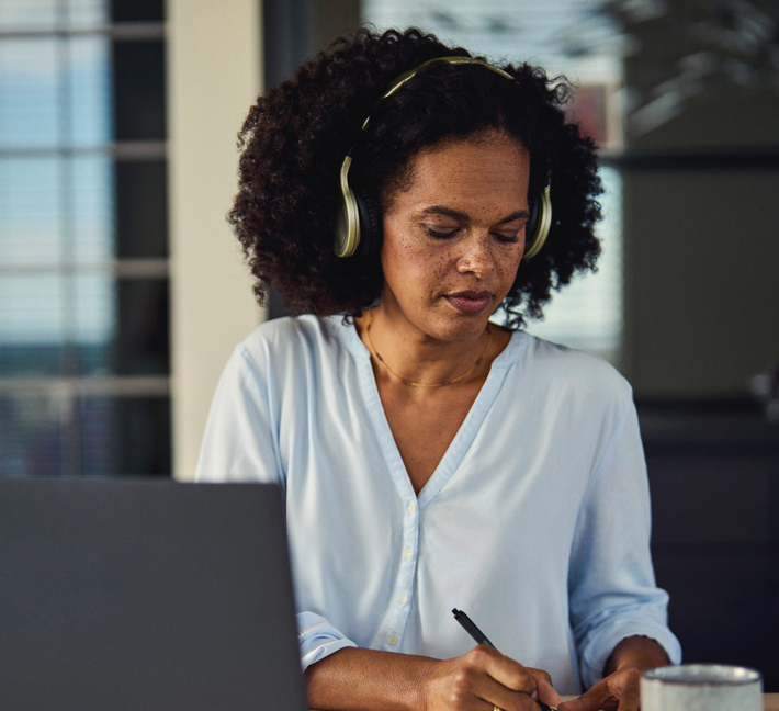
<svg viewBox="0 0 779 711">
<path fill-rule="evenodd" d="M 763 711 L 763 677 L 722 664 L 681 664 L 644 672 L 642 711 Z"/>
</svg>

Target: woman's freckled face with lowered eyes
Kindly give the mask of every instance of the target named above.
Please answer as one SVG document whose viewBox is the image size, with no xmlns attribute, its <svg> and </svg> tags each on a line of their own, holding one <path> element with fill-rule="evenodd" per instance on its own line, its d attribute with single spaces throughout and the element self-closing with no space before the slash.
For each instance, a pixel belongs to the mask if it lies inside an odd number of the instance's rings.
<svg viewBox="0 0 779 711">
<path fill-rule="evenodd" d="M 529 154 L 490 135 L 424 150 L 410 168 L 383 217 L 382 308 L 439 340 L 477 338 L 524 250 Z"/>
</svg>

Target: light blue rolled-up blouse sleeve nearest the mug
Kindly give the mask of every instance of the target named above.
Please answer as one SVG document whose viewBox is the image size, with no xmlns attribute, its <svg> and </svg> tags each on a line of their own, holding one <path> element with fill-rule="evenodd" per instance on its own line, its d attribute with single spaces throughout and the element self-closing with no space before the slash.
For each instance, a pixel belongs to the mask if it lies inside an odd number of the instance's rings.
<svg viewBox="0 0 779 711">
<path fill-rule="evenodd" d="M 594 471 L 579 512 L 568 575 L 571 624 L 586 688 L 603 676 L 619 642 L 656 640 L 681 658 L 667 625 L 668 595 L 655 585 L 650 553 L 646 463 L 629 399 Z"/>
</svg>

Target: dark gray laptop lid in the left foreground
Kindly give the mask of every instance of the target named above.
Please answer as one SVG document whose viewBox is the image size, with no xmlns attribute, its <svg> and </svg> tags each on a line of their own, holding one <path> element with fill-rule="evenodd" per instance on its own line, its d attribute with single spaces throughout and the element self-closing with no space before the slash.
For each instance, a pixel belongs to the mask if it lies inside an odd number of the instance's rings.
<svg viewBox="0 0 779 711">
<path fill-rule="evenodd" d="M 305 709 L 278 487 L 0 478 L 0 707 Z"/>
</svg>

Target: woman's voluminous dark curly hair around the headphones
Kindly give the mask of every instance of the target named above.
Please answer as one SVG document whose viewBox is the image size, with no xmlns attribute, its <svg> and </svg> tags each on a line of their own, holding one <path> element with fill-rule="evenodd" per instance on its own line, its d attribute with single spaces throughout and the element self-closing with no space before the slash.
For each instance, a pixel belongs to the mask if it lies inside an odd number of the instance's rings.
<svg viewBox="0 0 779 711">
<path fill-rule="evenodd" d="M 528 149 L 529 195 L 549 183 L 553 205 L 546 244 L 521 263 L 501 305 L 507 324 L 523 323 L 520 308 L 540 318 L 551 289 L 567 284 L 575 271 L 595 270 L 600 247 L 592 229 L 602 191 L 595 146 L 563 112 L 567 84 L 527 64 L 501 67 L 511 82 L 478 65 L 437 61 L 380 101 L 403 72 L 455 55 L 471 56 L 416 27 L 362 29 L 257 100 L 239 137 L 239 192 L 229 221 L 261 304 L 269 285 L 297 314 L 359 315 L 379 296 L 377 255 L 339 259 L 332 251 L 339 171 L 350 150 L 350 182 L 386 208 L 420 149 L 492 131 Z"/>
</svg>

